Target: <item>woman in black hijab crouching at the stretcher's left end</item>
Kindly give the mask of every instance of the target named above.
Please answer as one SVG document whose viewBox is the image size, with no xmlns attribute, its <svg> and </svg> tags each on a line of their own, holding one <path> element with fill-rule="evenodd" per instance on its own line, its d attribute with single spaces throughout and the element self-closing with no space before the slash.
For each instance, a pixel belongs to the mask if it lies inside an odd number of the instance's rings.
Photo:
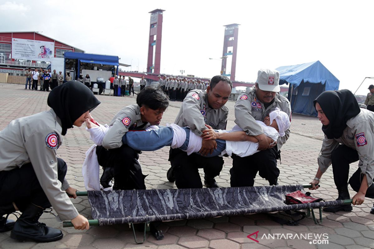
<svg viewBox="0 0 374 249">
<path fill-rule="evenodd" d="M 17 240 L 62 238 L 60 230 L 38 222 L 50 206 L 74 228 L 89 228 L 66 194 L 76 198 L 76 189 L 65 180 L 67 165 L 56 150 L 67 129 L 80 127 L 100 102 L 85 85 L 68 81 L 53 88 L 47 103 L 49 111 L 15 119 L 0 131 L 0 232 L 12 230 Z M 22 212 L 16 222 L 3 217 L 15 210 Z"/>
</svg>

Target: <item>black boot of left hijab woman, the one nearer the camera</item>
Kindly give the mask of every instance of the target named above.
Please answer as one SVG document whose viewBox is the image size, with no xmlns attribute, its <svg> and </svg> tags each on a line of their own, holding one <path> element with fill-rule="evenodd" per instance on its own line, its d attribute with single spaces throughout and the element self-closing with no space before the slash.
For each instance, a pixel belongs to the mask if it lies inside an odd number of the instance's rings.
<svg viewBox="0 0 374 249">
<path fill-rule="evenodd" d="M 43 210 L 40 206 L 30 203 L 14 224 L 10 237 L 19 241 L 31 239 L 36 242 L 52 242 L 62 239 L 63 234 L 60 230 L 38 222 Z"/>
</svg>

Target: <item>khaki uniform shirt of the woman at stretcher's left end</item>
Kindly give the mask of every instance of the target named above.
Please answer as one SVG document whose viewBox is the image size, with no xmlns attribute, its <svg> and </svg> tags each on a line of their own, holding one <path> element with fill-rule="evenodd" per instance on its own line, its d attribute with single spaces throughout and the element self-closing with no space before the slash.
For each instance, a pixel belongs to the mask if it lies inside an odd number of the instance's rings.
<svg viewBox="0 0 374 249">
<path fill-rule="evenodd" d="M 69 184 L 57 178 L 56 150 L 62 144 L 61 121 L 56 113 L 40 112 L 15 119 L 0 131 L 0 171 L 30 163 L 49 202 L 62 220 L 78 216 L 66 192 Z"/>
</svg>

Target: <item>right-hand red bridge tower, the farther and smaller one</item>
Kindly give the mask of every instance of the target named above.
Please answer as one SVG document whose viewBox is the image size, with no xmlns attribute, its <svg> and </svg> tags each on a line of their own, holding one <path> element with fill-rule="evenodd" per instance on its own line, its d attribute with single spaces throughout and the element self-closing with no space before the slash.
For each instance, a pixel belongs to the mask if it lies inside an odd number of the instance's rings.
<svg viewBox="0 0 374 249">
<path fill-rule="evenodd" d="M 237 35 L 240 24 L 224 25 L 225 36 L 223 39 L 222 67 L 221 75 L 230 76 L 230 80 L 235 80 L 236 53 L 237 53 Z M 227 59 L 231 57 L 231 72 L 227 74 Z"/>
</svg>

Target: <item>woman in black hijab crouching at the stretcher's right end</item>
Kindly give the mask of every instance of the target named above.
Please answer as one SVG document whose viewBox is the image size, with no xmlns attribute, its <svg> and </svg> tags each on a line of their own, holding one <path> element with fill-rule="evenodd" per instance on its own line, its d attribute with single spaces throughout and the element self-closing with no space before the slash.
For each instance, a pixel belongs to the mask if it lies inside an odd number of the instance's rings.
<svg viewBox="0 0 374 249">
<path fill-rule="evenodd" d="M 361 205 L 365 196 L 374 198 L 374 113 L 359 108 L 349 90 L 325 91 L 314 100 L 314 106 L 325 138 L 311 189 L 318 189 L 316 184 L 332 164 L 337 200 L 350 199 L 348 183 L 357 192 L 353 205 Z M 359 168 L 348 181 L 349 164 L 356 161 Z M 324 211 L 352 211 L 352 205 L 331 206 Z M 374 214 L 374 207 L 370 212 Z"/>
</svg>

